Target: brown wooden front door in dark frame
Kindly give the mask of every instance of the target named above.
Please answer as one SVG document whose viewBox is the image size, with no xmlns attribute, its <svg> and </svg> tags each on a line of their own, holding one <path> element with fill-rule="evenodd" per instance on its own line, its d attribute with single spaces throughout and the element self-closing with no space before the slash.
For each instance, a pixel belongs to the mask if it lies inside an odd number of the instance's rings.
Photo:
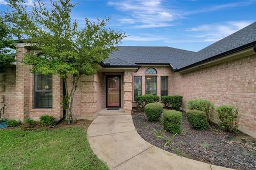
<svg viewBox="0 0 256 170">
<path fill-rule="evenodd" d="M 121 76 L 106 75 L 106 106 L 121 107 Z"/>
</svg>

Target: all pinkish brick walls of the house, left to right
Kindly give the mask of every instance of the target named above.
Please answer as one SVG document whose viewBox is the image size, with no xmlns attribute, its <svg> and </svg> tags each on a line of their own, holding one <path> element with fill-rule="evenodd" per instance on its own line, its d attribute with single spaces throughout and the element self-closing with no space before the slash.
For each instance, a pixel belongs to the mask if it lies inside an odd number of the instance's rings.
<svg viewBox="0 0 256 170">
<path fill-rule="evenodd" d="M 33 109 L 33 74 L 20 62 L 28 50 L 17 49 L 17 65 L 0 75 L 0 104 L 6 103 L 4 117 L 37 119 L 44 114 L 55 118 L 62 116 L 62 82 L 53 76 L 53 108 Z M 122 75 L 122 107 L 130 112 L 133 101 L 133 76 L 142 76 L 142 94 L 145 94 L 145 71 L 142 66 L 137 72 L 119 72 Z M 173 72 L 171 67 L 155 66 L 157 70 L 157 94 L 161 94 L 161 76 L 169 76 L 169 95 L 183 95 L 184 109 L 189 99 L 210 100 L 215 106 L 233 104 L 241 109 L 240 127 L 256 132 L 256 55 L 246 56 L 185 74 Z M 105 75 L 112 72 L 99 72 L 94 76 L 82 76 L 74 99 L 74 112 L 77 118 L 93 119 L 97 112 L 105 108 Z M 133 106 L 135 103 L 133 102 Z"/>
</svg>

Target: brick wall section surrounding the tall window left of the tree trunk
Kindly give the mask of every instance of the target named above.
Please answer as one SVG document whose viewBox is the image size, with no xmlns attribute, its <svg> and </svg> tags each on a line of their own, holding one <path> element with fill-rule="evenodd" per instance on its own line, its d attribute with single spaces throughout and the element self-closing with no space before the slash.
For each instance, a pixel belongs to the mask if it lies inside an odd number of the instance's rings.
<svg viewBox="0 0 256 170">
<path fill-rule="evenodd" d="M 61 99 L 62 84 L 58 75 L 53 76 L 53 108 L 52 109 L 34 109 L 34 74 L 29 72 L 29 67 L 24 66 L 21 60 L 29 50 L 24 46 L 17 48 L 16 66 L 9 68 L 1 80 L 0 86 L 4 91 L 0 92 L 0 104 L 6 103 L 4 117 L 7 119 L 23 119 L 31 117 L 36 120 L 42 115 L 53 115 L 56 119 L 62 116 Z M 1 101 L 1 99 L 3 99 Z"/>
</svg>

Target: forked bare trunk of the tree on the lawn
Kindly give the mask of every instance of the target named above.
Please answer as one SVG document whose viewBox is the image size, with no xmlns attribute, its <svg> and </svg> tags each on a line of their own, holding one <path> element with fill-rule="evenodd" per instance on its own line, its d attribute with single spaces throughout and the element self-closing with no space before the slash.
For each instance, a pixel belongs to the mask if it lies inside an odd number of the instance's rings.
<svg viewBox="0 0 256 170">
<path fill-rule="evenodd" d="M 73 100 L 76 92 L 77 82 L 81 76 L 72 75 L 72 77 L 73 77 L 72 87 L 70 90 L 68 88 L 67 78 L 63 78 L 66 95 L 63 97 L 62 106 L 63 106 L 63 109 L 66 109 L 66 119 L 69 125 L 76 122 L 76 119 L 74 117 L 74 112 L 73 112 Z"/>
</svg>

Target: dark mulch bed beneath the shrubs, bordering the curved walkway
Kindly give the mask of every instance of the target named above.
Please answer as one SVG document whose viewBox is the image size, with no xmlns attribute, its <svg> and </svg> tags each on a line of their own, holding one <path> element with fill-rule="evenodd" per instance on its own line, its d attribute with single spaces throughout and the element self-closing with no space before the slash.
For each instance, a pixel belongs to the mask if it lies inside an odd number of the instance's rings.
<svg viewBox="0 0 256 170">
<path fill-rule="evenodd" d="M 164 148 L 165 140 L 156 137 L 154 129 L 171 137 L 160 122 L 149 122 L 143 112 L 134 111 L 133 123 L 140 136 L 166 151 L 187 157 L 235 169 L 256 169 L 255 140 L 243 133 L 228 133 L 211 125 L 209 129 L 200 131 L 194 129 L 187 122 L 185 113 L 182 114 L 182 132 Z"/>
</svg>

